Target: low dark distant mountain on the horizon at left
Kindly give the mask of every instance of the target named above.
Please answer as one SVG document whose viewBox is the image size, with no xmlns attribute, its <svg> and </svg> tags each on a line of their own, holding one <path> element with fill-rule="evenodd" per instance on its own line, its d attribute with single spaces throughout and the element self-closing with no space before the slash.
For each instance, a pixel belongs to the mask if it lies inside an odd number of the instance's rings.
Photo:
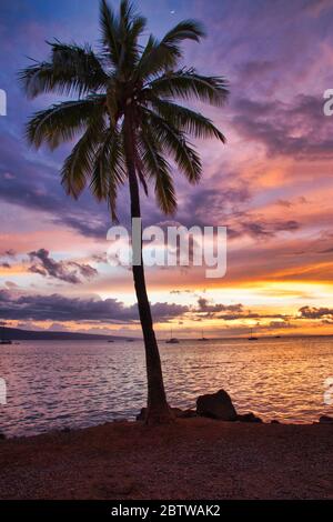
<svg viewBox="0 0 333 522">
<path fill-rule="evenodd" d="M 37 332 L 33 330 L 20 330 L 18 328 L 1 329 L 1 338 L 10 339 L 12 341 L 108 341 L 122 340 L 120 335 L 102 335 L 97 333 L 78 333 L 78 332 Z"/>
</svg>

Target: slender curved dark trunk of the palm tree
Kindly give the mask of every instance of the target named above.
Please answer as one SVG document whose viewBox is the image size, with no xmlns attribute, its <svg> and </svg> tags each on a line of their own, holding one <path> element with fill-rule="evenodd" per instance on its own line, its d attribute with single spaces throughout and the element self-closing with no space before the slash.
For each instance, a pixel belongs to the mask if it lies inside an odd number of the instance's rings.
<svg viewBox="0 0 333 522">
<path fill-rule="evenodd" d="M 127 168 L 130 184 L 131 218 L 141 218 L 139 184 L 135 172 L 134 148 L 135 138 L 133 133 L 133 120 L 130 110 L 125 114 L 124 121 L 124 148 L 127 157 Z M 142 245 L 142 229 L 140 229 L 140 243 Z M 144 340 L 147 378 L 148 378 L 148 411 L 145 422 L 148 424 L 160 424 L 172 422 L 173 415 L 167 402 L 163 383 L 162 368 L 159 348 L 147 294 L 144 268 L 141 254 L 141 264 L 133 265 L 133 279 L 138 299 L 140 322 Z"/>
</svg>

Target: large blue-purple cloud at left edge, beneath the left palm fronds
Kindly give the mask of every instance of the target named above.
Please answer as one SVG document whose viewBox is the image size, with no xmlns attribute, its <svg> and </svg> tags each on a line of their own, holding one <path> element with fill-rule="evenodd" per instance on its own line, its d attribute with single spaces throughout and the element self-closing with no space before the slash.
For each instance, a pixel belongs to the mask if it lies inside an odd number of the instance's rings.
<svg viewBox="0 0 333 522">
<path fill-rule="evenodd" d="M 111 224 L 107 203 L 95 203 L 88 191 L 79 201 L 69 198 L 61 187 L 59 175 L 63 155 L 58 158 L 59 165 L 54 169 L 40 153 L 34 154 L 33 160 L 27 159 L 21 141 L 14 140 L 6 132 L 1 135 L 0 200 L 47 213 L 50 222 L 71 228 L 84 237 L 105 238 Z M 16 175 L 4 175 L 3 172 L 8 171 Z"/>
</svg>

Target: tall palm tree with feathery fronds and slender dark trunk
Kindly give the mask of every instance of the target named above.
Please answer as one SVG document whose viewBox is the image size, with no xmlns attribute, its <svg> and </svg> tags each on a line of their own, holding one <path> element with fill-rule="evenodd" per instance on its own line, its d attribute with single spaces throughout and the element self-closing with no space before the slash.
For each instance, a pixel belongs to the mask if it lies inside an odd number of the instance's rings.
<svg viewBox="0 0 333 522">
<path fill-rule="evenodd" d="M 68 194 L 78 198 L 89 183 L 94 197 L 109 204 L 117 220 L 117 193 L 129 182 L 131 217 L 140 218 L 141 184 L 148 194 L 153 184 L 160 209 L 176 210 L 172 180 L 172 158 L 190 183 L 201 177 L 200 157 L 188 142 L 194 138 L 223 134 L 199 112 L 175 103 L 174 98 L 196 99 L 221 106 L 228 96 L 226 81 L 180 68 L 183 40 L 200 41 L 203 28 L 185 20 L 162 40 L 153 36 L 142 47 L 147 20 L 127 0 L 115 14 L 100 3 L 101 46 L 65 44 L 51 47 L 49 61 L 33 62 L 20 73 L 29 98 L 53 92 L 74 101 L 63 101 L 33 114 L 27 138 L 37 148 L 51 149 L 80 138 L 65 159 L 61 181 Z M 142 239 L 141 239 L 142 241 Z M 139 315 L 143 331 L 148 374 L 148 423 L 170 422 L 160 354 L 147 294 L 143 265 L 133 265 Z"/>
</svg>

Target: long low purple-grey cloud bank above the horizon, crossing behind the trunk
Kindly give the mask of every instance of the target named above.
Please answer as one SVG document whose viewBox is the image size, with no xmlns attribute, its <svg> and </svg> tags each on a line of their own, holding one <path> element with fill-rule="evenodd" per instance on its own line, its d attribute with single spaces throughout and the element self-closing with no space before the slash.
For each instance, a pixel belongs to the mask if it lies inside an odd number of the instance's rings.
<svg viewBox="0 0 333 522">
<path fill-rule="evenodd" d="M 155 303 L 151 307 L 155 322 L 168 322 L 183 315 L 188 307 Z M 0 317 L 23 321 L 88 321 L 128 323 L 139 320 L 138 307 L 127 307 L 117 299 L 68 298 L 60 294 L 22 295 L 0 290 Z"/>
</svg>

